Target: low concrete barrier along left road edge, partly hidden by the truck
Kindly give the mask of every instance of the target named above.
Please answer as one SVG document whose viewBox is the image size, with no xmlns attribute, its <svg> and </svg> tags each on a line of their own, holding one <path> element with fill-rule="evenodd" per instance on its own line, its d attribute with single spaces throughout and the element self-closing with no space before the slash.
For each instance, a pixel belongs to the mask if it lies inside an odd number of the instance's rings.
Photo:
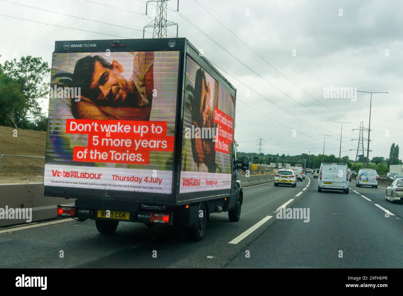
<svg viewBox="0 0 403 296">
<path fill-rule="evenodd" d="M 252 186 L 274 181 L 274 174 L 241 176 L 242 186 Z M 44 197 L 42 183 L 0 184 L 0 208 L 32 209 L 32 222 L 56 217 L 56 205 L 74 205 L 75 199 Z M 0 219 L 0 227 L 26 223 L 23 219 Z"/>
</svg>

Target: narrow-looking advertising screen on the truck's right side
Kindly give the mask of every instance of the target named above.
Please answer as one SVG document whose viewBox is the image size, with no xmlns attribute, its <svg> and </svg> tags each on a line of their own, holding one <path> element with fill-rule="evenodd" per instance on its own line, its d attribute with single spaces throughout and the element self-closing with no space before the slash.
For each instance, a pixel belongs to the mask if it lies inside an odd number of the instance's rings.
<svg viewBox="0 0 403 296">
<path fill-rule="evenodd" d="M 179 193 L 231 188 L 235 97 L 189 56 Z"/>
</svg>

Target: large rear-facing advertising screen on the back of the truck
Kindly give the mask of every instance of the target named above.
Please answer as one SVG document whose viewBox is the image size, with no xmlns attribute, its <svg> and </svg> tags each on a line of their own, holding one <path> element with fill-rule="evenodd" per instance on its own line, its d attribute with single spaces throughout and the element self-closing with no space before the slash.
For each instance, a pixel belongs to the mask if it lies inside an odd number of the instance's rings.
<svg viewBox="0 0 403 296">
<path fill-rule="evenodd" d="M 45 186 L 172 192 L 179 52 L 54 53 Z"/>
</svg>

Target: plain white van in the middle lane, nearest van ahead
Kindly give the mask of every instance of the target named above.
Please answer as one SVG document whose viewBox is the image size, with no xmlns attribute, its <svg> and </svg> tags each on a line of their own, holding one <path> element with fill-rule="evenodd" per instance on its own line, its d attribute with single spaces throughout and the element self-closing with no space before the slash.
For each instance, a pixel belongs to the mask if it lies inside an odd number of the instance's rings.
<svg viewBox="0 0 403 296">
<path fill-rule="evenodd" d="M 349 193 L 349 172 L 347 164 L 324 162 L 319 169 L 318 192 L 322 190 L 343 190 Z"/>
</svg>

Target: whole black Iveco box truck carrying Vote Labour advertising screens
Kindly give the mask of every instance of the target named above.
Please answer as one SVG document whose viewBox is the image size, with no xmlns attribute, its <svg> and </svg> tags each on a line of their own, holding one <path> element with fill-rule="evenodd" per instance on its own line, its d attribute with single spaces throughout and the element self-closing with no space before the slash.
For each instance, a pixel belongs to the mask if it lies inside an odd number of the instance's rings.
<svg viewBox="0 0 403 296">
<path fill-rule="evenodd" d="M 236 89 L 185 38 L 56 41 L 45 196 L 76 199 L 58 216 L 187 229 L 241 215 L 233 145 Z"/>
</svg>

